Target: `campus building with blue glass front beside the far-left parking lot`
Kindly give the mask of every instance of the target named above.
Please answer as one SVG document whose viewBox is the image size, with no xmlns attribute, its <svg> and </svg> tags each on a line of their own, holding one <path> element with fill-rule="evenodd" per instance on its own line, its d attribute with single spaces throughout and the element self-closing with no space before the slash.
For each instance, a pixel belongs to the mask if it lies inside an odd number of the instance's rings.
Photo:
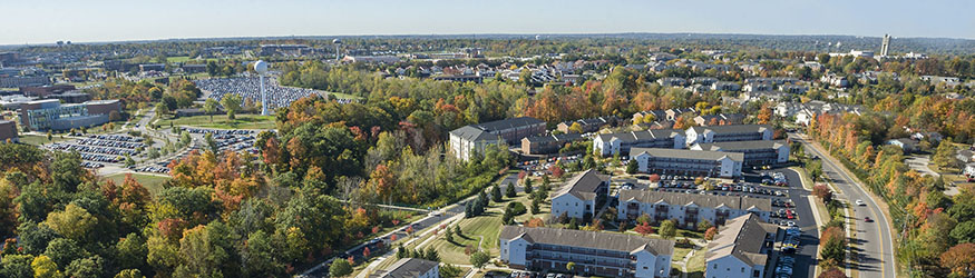
<svg viewBox="0 0 975 278">
<path fill-rule="evenodd" d="M 46 99 L 21 105 L 20 120 L 31 130 L 68 130 L 106 123 L 111 111 L 121 112 L 118 100 L 61 105 L 57 99 Z"/>
</svg>

